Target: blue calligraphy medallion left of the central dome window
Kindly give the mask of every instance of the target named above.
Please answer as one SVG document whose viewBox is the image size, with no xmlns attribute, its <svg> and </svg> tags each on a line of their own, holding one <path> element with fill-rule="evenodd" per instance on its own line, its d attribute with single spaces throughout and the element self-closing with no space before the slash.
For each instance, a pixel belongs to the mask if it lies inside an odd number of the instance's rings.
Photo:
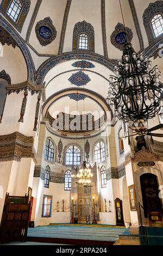
<svg viewBox="0 0 163 256">
<path fill-rule="evenodd" d="M 51 44 L 51 42 L 56 38 L 57 31 L 53 26 L 50 17 L 46 17 L 44 20 L 37 22 L 35 28 L 37 39 L 42 46 Z"/>
</svg>

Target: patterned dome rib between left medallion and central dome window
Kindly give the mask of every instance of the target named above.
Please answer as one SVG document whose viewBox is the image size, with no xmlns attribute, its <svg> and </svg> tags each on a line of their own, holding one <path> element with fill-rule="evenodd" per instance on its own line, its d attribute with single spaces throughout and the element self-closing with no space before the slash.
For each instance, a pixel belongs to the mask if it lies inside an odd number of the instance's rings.
<svg viewBox="0 0 163 256">
<path fill-rule="evenodd" d="M 70 11 L 70 7 L 71 7 L 71 2 L 72 2 L 72 0 L 67 0 L 65 13 L 64 13 L 64 19 L 63 19 L 63 22 L 62 22 L 61 34 L 60 34 L 58 55 L 60 55 L 62 53 L 63 48 L 64 48 L 65 33 L 66 33 L 67 20 L 68 20 L 68 14 L 69 14 L 69 11 Z"/>
</svg>

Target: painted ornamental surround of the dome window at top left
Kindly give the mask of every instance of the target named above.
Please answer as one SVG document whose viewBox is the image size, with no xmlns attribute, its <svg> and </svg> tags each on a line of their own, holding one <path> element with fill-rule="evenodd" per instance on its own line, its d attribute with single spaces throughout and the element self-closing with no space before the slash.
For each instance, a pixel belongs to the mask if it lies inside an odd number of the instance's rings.
<svg viewBox="0 0 163 256">
<path fill-rule="evenodd" d="M 11 2 L 12 1 L 9 1 L 9 0 L 3 0 L 0 6 L 0 11 L 5 16 L 5 18 L 17 29 L 17 31 L 21 32 L 24 21 L 26 20 L 27 14 L 29 12 L 30 0 L 21 0 L 23 7 L 20 15 L 18 16 L 17 22 L 14 22 L 7 14 L 7 11 L 10 7 Z"/>
</svg>

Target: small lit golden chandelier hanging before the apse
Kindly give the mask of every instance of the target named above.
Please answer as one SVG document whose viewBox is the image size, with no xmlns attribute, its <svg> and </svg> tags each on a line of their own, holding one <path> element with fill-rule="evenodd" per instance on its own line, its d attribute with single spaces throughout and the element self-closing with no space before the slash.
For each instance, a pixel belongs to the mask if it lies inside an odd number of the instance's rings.
<svg viewBox="0 0 163 256">
<path fill-rule="evenodd" d="M 77 178 L 78 183 L 84 186 L 91 184 L 92 176 L 91 170 L 86 167 L 86 161 L 83 161 L 83 167 L 79 169 L 78 173 L 72 174 L 72 178 Z"/>
</svg>

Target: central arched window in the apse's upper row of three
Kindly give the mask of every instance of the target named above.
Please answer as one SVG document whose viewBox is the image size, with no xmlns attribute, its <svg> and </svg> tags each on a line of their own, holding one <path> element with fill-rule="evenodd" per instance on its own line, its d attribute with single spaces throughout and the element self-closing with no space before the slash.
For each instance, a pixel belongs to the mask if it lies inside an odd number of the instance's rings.
<svg viewBox="0 0 163 256">
<path fill-rule="evenodd" d="M 80 149 L 76 145 L 71 145 L 66 150 L 66 164 L 70 166 L 80 165 Z"/>
</svg>

